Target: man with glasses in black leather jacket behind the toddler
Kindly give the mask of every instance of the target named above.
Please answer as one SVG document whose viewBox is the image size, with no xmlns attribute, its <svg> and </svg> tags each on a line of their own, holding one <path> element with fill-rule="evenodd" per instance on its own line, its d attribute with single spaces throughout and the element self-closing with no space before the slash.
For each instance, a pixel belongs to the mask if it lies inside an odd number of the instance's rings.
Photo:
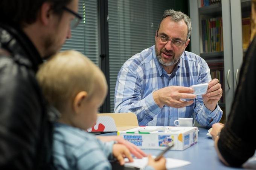
<svg viewBox="0 0 256 170">
<path fill-rule="evenodd" d="M 49 169 L 52 127 L 35 73 L 71 37 L 77 11 L 78 0 L 0 0 L 1 170 Z"/>
</svg>

